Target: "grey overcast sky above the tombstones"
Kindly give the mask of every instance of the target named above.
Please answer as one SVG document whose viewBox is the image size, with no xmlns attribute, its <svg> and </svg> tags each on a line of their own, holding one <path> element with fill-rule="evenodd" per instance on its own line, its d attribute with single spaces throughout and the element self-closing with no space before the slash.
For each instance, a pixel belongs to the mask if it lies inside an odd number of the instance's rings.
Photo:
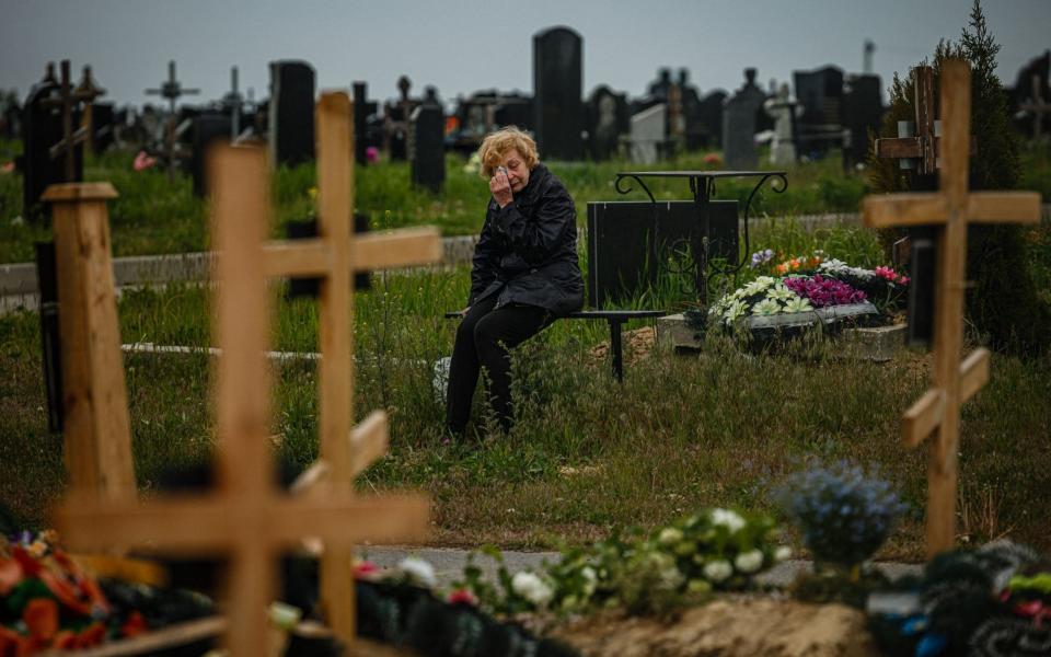
<svg viewBox="0 0 1051 657">
<path fill-rule="evenodd" d="M 958 38 L 971 0 L 0 0 L 0 89 L 24 99 L 48 60 L 90 64 L 109 101 L 142 104 L 178 66 L 184 87 L 219 99 L 230 68 L 267 95 L 267 62 L 304 59 L 320 88 L 369 83 L 370 97 L 434 84 L 446 101 L 481 89 L 532 92 L 532 36 L 567 25 L 584 37 L 584 91 L 607 83 L 640 95 L 660 67 L 685 67 L 707 93 L 827 64 L 861 72 L 876 44 L 883 89 L 894 71 Z M 1051 0 L 986 0 L 1002 44 L 998 74 L 1051 48 Z M 196 99 L 188 99 L 196 102 Z M 886 101 L 886 91 L 885 91 Z"/>
</svg>

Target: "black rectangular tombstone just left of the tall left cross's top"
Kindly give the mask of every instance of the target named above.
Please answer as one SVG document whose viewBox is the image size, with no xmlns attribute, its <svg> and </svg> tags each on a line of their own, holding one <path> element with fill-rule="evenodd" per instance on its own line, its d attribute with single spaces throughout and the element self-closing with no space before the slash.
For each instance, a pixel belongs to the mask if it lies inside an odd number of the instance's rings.
<svg viewBox="0 0 1051 657">
<path fill-rule="evenodd" d="M 275 165 L 314 159 L 314 69 L 305 61 L 270 62 L 269 124 Z"/>
</svg>

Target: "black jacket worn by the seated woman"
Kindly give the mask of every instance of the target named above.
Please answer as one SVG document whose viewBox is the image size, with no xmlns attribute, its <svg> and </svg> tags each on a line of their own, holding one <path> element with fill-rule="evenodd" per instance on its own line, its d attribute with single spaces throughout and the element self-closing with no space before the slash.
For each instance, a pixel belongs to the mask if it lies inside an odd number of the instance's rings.
<svg viewBox="0 0 1051 657">
<path fill-rule="evenodd" d="M 467 304 L 499 295 L 509 303 L 539 306 L 555 316 L 584 306 L 577 262 L 577 211 L 553 173 L 536 164 L 529 184 L 503 209 L 494 198 L 474 247 Z"/>
</svg>

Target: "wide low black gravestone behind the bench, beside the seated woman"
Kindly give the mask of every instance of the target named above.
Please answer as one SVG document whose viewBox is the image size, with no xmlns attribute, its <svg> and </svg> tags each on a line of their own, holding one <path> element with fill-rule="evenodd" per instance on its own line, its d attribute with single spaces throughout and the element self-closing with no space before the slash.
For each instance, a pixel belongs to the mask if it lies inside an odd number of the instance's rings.
<svg viewBox="0 0 1051 657">
<path fill-rule="evenodd" d="M 738 261 L 736 200 L 706 206 L 712 234 L 708 260 Z M 588 204 L 588 304 L 631 299 L 661 275 L 681 273 L 693 284 L 702 251 L 703 218 L 692 200 Z"/>
</svg>

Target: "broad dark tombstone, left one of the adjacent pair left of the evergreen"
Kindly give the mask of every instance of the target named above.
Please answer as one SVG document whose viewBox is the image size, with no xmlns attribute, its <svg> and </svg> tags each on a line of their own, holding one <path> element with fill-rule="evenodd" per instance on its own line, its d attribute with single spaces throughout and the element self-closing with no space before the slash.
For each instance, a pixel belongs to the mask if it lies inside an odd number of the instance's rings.
<svg viewBox="0 0 1051 657">
<path fill-rule="evenodd" d="M 796 99 L 802 105 L 798 120 L 797 150 L 823 157 L 843 139 L 843 70 L 827 66 L 813 71 L 794 71 Z"/>
</svg>

